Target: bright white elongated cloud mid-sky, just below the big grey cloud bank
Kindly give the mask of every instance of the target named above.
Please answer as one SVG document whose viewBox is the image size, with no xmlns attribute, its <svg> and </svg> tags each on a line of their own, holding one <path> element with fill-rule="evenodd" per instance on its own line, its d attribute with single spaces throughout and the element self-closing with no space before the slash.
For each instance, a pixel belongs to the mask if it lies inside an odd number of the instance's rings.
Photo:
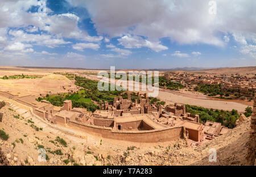
<svg viewBox="0 0 256 177">
<path fill-rule="evenodd" d="M 141 48 L 148 47 L 155 52 L 160 52 L 161 50 L 166 50 L 168 47 L 159 44 L 160 42 L 151 42 L 148 40 L 142 39 L 139 36 L 131 36 L 129 34 L 118 39 L 119 43 L 123 45 L 125 48 Z"/>
</svg>

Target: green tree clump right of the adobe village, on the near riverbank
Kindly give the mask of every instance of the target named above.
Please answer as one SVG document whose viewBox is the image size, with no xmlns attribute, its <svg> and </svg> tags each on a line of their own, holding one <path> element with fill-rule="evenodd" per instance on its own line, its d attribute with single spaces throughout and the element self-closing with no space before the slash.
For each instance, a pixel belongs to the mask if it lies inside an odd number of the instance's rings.
<svg viewBox="0 0 256 177">
<path fill-rule="evenodd" d="M 186 111 L 199 115 L 201 123 L 205 123 L 207 120 L 209 120 L 221 123 L 228 128 L 236 127 L 236 120 L 239 117 L 237 110 L 235 109 L 233 109 L 232 111 L 219 111 L 218 109 L 213 111 L 213 109 L 190 106 L 186 104 Z"/>
</svg>

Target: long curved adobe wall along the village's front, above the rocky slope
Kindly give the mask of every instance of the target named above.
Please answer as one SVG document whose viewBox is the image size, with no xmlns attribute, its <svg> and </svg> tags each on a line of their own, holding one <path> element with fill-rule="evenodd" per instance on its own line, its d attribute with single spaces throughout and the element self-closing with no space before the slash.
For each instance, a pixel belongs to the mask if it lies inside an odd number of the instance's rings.
<svg viewBox="0 0 256 177">
<path fill-rule="evenodd" d="M 172 127 L 162 130 L 142 130 L 142 131 L 118 131 L 112 128 L 102 128 L 95 125 L 82 124 L 77 121 L 69 121 L 68 125 L 76 127 L 90 134 L 96 134 L 104 138 L 114 140 L 125 140 L 132 142 L 166 142 L 174 141 L 183 137 L 182 127 Z"/>
</svg>

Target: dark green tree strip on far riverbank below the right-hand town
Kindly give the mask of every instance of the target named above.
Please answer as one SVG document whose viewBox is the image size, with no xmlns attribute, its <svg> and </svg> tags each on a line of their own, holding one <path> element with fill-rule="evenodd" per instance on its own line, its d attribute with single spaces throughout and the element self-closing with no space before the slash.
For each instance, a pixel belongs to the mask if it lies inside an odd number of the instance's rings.
<svg viewBox="0 0 256 177">
<path fill-rule="evenodd" d="M 203 92 L 205 95 L 208 96 L 216 96 L 220 95 L 218 98 L 222 99 L 242 99 L 248 98 L 251 100 L 254 96 L 254 90 L 251 91 L 241 91 L 236 89 L 226 89 L 222 88 L 221 84 L 213 85 L 213 84 L 199 84 L 195 87 L 196 91 Z"/>
</svg>

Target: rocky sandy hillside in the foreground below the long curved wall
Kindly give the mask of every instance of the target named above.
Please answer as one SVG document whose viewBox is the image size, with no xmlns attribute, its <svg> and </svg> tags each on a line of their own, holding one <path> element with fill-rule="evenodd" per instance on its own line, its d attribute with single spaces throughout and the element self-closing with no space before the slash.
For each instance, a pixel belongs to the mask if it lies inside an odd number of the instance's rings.
<svg viewBox="0 0 256 177">
<path fill-rule="evenodd" d="M 23 117 L 8 104 L 0 112 L 2 165 L 245 165 L 249 119 L 196 146 L 190 140 L 139 144 L 96 136 L 87 142 L 39 124 L 35 117 Z M 217 150 L 217 162 L 208 161 L 211 148 Z M 42 149 L 46 151 L 45 162 L 40 162 Z"/>
</svg>

